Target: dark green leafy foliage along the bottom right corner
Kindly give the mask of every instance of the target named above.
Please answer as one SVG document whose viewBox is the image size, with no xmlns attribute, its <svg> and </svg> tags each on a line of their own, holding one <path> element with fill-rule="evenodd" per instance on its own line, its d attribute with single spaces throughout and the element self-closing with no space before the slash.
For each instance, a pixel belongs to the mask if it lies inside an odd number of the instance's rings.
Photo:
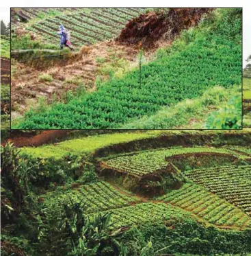
<svg viewBox="0 0 251 256">
<path fill-rule="evenodd" d="M 139 255 L 136 252 L 140 247 L 138 243 L 145 244 L 149 237 L 152 237 L 155 250 L 168 246 L 161 253 L 174 255 L 247 255 L 250 251 L 250 231 L 219 231 L 213 227 L 206 229 L 194 220 L 182 218 L 181 215 L 172 217 L 167 213 L 167 216 L 170 218 L 168 228 L 163 224 L 149 224 L 140 230 L 130 229 L 124 233 L 124 242 L 133 243 L 129 255 Z"/>
</svg>

